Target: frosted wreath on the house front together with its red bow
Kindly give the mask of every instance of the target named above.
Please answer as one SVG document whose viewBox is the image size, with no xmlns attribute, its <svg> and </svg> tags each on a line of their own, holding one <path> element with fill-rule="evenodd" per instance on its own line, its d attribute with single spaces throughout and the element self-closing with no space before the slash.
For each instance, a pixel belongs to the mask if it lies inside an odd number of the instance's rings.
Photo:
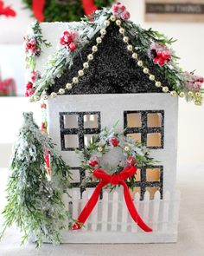
<svg viewBox="0 0 204 256">
<path fill-rule="evenodd" d="M 107 154 L 109 155 L 107 162 L 105 162 Z M 109 131 L 105 128 L 99 135 L 93 136 L 88 147 L 83 150 L 82 157 L 82 167 L 89 170 L 89 178 L 97 179 L 99 183 L 72 229 L 78 230 L 86 222 L 99 201 L 99 194 L 104 187 L 122 186 L 124 187 L 124 200 L 132 220 L 144 232 L 151 232 L 150 226 L 143 221 L 137 212 L 129 191 L 129 187 L 134 187 L 137 167 L 154 163 L 154 160 L 150 158 L 148 149 L 131 137 L 125 136 L 124 133 L 116 133 L 114 128 Z M 118 161 L 118 164 L 114 165 L 114 161 Z"/>
</svg>

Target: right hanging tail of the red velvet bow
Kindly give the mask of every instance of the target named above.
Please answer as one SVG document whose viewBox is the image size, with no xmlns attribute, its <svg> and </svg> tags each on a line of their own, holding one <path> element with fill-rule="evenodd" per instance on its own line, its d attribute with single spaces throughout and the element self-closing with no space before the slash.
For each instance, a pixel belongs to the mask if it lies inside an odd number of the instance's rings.
<svg viewBox="0 0 204 256">
<path fill-rule="evenodd" d="M 126 205 L 128 207 L 128 211 L 131 214 L 131 218 L 135 220 L 137 225 L 143 229 L 145 232 L 152 232 L 152 229 L 150 226 L 147 226 L 142 218 L 140 217 L 139 213 L 137 213 L 137 209 L 134 206 L 132 199 L 131 199 L 131 194 L 129 192 L 129 188 L 127 187 L 126 183 L 124 181 L 120 182 L 121 185 L 124 187 L 124 200 L 126 202 Z"/>
</svg>

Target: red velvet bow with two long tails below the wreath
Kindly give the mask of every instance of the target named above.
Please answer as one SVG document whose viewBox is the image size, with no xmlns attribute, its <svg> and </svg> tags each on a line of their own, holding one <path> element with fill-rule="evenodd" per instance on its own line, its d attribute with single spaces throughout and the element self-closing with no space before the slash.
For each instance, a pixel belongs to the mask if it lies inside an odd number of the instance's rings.
<svg viewBox="0 0 204 256">
<path fill-rule="evenodd" d="M 119 174 L 113 174 L 113 175 L 106 174 L 105 171 L 101 169 L 96 169 L 93 172 L 93 176 L 100 179 L 101 181 L 93 191 L 93 194 L 90 200 L 88 200 L 88 202 L 86 203 L 86 206 L 80 213 L 78 220 L 73 224 L 72 229 L 77 230 L 81 228 L 81 224 L 85 223 L 88 216 L 92 213 L 92 209 L 96 206 L 99 200 L 99 194 L 102 188 L 105 187 L 107 184 L 111 183 L 112 185 L 122 185 L 124 187 L 124 200 L 129 210 L 129 213 L 131 214 L 131 218 L 137 223 L 138 226 L 140 226 L 143 229 L 143 231 L 151 232 L 152 229 L 143 222 L 142 218 L 137 213 L 137 209 L 134 206 L 131 199 L 129 188 L 124 182 L 125 180 L 130 178 L 132 175 L 136 174 L 136 172 L 137 172 L 137 168 L 131 165 L 124 167 L 124 169 Z"/>
</svg>

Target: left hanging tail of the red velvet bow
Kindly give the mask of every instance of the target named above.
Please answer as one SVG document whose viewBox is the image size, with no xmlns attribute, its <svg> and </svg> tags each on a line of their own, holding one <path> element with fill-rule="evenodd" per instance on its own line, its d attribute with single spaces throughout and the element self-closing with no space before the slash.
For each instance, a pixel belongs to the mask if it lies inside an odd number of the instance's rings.
<svg viewBox="0 0 204 256">
<path fill-rule="evenodd" d="M 102 188 L 107 184 L 106 181 L 100 181 L 98 186 L 92 193 L 90 200 L 86 203 L 86 206 L 83 208 L 80 216 L 78 217 L 77 221 L 73 224 L 72 230 L 78 230 L 81 226 L 86 222 L 88 216 L 92 213 L 92 209 L 96 206 L 99 200 L 99 194 Z"/>
</svg>

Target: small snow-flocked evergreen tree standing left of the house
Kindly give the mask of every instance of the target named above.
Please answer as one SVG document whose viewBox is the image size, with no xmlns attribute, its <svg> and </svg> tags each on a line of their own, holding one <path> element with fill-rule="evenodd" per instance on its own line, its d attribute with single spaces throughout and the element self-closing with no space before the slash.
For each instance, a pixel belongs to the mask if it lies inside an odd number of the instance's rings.
<svg viewBox="0 0 204 256">
<path fill-rule="evenodd" d="M 12 224 L 23 233 L 22 244 L 33 237 L 36 246 L 42 240 L 61 242 L 61 230 L 72 226 L 72 219 L 62 201 L 62 193 L 70 186 L 71 175 L 53 142 L 33 120 L 32 113 L 24 113 L 24 122 L 14 147 L 11 173 L 7 185 L 7 205 L 3 210 L 4 228 Z M 51 179 L 45 165 L 48 150 Z M 3 233 L 1 237 L 3 236 Z"/>
</svg>

